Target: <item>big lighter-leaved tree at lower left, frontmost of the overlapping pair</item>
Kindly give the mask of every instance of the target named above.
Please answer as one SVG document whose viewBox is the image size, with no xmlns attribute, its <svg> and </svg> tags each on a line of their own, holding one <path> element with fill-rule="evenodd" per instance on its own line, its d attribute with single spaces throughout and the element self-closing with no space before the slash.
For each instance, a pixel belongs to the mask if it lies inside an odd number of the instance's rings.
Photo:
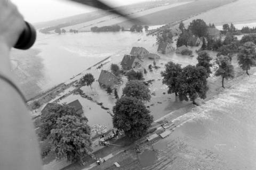
<svg viewBox="0 0 256 170">
<path fill-rule="evenodd" d="M 57 159 L 67 158 L 82 164 L 83 158 L 91 154 L 91 129 L 82 117 L 66 115 L 58 118 L 49 139 Z"/>
</svg>

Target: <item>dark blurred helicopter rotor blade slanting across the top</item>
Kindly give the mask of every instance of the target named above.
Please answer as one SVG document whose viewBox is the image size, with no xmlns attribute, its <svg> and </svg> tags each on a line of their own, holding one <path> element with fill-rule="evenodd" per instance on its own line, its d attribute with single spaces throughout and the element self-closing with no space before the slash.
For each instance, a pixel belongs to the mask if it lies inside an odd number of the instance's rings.
<svg viewBox="0 0 256 170">
<path fill-rule="evenodd" d="M 76 3 L 79 3 L 79 4 L 84 4 L 84 5 L 95 7 L 95 8 L 99 8 L 103 11 L 109 11 L 111 13 L 123 16 L 124 18 L 128 19 L 129 21 L 131 21 L 133 23 L 143 24 L 142 21 L 140 21 L 136 18 L 132 18 L 129 15 L 124 14 L 123 12 L 120 12 L 120 11 L 116 10 L 115 8 L 113 8 L 113 7 L 107 5 L 107 4 L 105 4 L 105 3 L 103 3 L 99 0 L 69 0 L 69 1 L 73 1 L 73 2 L 76 2 Z"/>
</svg>

